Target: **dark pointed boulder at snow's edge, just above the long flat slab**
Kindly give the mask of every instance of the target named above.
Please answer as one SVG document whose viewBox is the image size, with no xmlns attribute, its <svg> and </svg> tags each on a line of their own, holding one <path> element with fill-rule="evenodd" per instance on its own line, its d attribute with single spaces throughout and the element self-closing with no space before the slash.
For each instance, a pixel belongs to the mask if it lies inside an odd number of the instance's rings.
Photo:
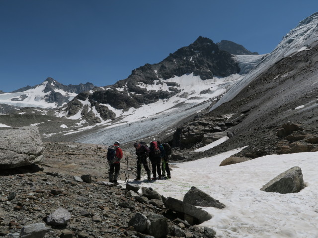
<svg viewBox="0 0 318 238">
<path fill-rule="evenodd" d="M 214 199 L 209 194 L 196 187 L 190 188 L 190 190 L 184 195 L 183 202 L 199 207 L 225 208 L 225 205 L 219 202 L 219 200 Z"/>
</svg>

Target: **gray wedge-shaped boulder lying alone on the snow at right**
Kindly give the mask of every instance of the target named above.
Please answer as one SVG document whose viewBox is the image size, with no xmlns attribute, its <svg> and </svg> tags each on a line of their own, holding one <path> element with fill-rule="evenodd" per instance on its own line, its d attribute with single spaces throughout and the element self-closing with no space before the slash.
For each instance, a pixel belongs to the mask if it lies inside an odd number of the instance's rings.
<svg viewBox="0 0 318 238">
<path fill-rule="evenodd" d="M 295 166 L 276 176 L 260 190 L 265 192 L 294 193 L 305 188 L 302 169 Z"/>
</svg>

